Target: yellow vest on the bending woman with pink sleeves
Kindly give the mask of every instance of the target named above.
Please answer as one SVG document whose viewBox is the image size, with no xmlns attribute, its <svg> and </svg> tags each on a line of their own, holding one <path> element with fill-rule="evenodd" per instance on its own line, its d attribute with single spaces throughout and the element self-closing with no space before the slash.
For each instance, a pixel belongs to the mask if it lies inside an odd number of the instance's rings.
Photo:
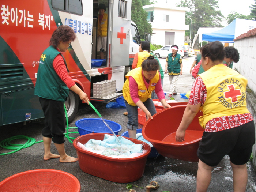
<svg viewBox="0 0 256 192">
<path fill-rule="evenodd" d="M 123 86 L 124 99 L 129 103 L 129 105 L 136 106 L 136 104 L 132 101 L 132 98 L 130 95 L 129 76 L 132 76 L 135 79 L 136 83 L 138 84 L 138 95 L 139 95 L 140 101 L 145 102 L 147 101 L 148 98 L 151 98 L 151 92 L 155 89 L 155 85 L 157 84 L 160 78 L 158 71 L 157 71 L 157 74 L 154 76 L 154 78 L 150 80 L 148 90 L 143 81 L 141 67 L 132 69 L 131 71 L 128 72 L 127 75 L 125 75 L 127 79 Z"/>
</svg>

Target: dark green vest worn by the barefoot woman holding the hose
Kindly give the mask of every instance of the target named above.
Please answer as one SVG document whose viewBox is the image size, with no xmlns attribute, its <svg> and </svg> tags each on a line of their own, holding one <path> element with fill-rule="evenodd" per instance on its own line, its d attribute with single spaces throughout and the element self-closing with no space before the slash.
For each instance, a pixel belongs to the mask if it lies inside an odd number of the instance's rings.
<svg viewBox="0 0 256 192">
<path fill-rule="evenodd" d="M 61 53 L 53 46 L 49 46 L 43 52 L 39 61 L 34 94 L 46 99 L 65 102 L 69 89 L 53 68 L 53 60 L 58 54 Z M 64 62 L 67 67 L 65 59 Z"/>
</svg>

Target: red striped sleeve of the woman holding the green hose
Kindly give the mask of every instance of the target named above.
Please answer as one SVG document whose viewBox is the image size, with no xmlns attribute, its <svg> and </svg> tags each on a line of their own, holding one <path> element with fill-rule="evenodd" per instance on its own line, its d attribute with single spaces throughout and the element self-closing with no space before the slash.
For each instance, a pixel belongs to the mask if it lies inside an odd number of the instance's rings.
<svg viewBox="0 0 256 192">
<path fill-rule="evenodd" d="M 68 75 L 68 71 L 66 68 L 66 65 L 64 63 L 63 57 L 58 54 L 54 60 L 53 60 L 53 68 L 56 71 L 56 73 L 59 75 L 61 80 L 67 85 L 67 87 L 70 89 L 70 87 L 75 85 L 75 82 L 72 80 L 72 78 Z"/>
</svg>

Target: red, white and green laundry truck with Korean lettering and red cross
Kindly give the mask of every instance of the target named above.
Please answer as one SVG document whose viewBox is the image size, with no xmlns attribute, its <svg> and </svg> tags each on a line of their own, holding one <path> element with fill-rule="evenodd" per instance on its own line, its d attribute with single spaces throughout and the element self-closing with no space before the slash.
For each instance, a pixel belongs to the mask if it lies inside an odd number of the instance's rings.
<svg viewBox="0 0 256 192">
<path fill-rule="evenodd" d="M 74 29 L 76 40 L 63 55 L 69 75 L 91 101 L 122 95 L 125 72 L 138 52 L 140 36 L 131 22 L 131 0 L 105 0 L 108 34 L 105 59 L 97 52 L 98 0 L 12 0 L 0 6 L 0 126 L 44 117 L 34 95 L 42 52 L 60 25 Z M 113 85 L 114 82 L 114 85 Z M 98 86 L 101 94 L 94 92 Z M 102 94 L 110 90 L 110 95 Z M 69 92 L 68 120 L 78 110 L 78 95 Z"/>
</svg>

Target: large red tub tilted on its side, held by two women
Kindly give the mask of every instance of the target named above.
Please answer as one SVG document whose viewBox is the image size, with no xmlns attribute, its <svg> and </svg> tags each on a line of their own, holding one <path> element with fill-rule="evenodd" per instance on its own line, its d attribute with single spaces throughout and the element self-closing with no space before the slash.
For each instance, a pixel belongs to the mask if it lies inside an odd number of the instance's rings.
<svg viewBox="0 0 256 192">
<path fill-rule="evenodd" d="M 164 157 L 185 161 L 199 161 L 196 152 L 204 129 L 199 125 L 198 112 L 186 130 L 185 142 L 176 142 L 175 134 L 187 105 L 172 106 L 154 115 L 143 126 L 142 135 Z M 159 127 L 161 126 L 161 127 Z M 156 134 L 157 132 L 157 134 Z"/>
</svg>

